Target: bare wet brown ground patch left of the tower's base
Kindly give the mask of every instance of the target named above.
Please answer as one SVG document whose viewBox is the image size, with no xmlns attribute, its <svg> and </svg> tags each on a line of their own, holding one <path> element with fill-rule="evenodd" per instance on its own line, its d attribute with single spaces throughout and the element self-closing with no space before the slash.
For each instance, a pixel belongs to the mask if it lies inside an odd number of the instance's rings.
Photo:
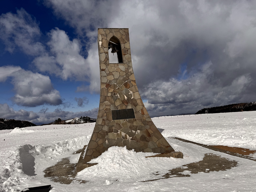
<svg viewBox="0 0 256 192">
<path fill-rule="evenodd" d="M 70 184 L 72 182 L 86 183 L 88 181 L 75 179 L 76 164 L 70 163 L 68 158 L 44 170 L 44 177 L 51 177 L 57 183 Z"/>
</svg>

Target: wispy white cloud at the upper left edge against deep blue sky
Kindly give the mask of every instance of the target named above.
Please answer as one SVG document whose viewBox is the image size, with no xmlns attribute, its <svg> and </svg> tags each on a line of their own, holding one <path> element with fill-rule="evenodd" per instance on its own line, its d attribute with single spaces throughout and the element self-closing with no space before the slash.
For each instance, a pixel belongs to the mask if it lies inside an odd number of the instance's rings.
<svg viewBox="0 0 256 192">
<path fill-rule="evenodd" d="M 36 19 L 23 8 L 17 10 L 17 14 L 8 12 L 0 16 L 0 39 L 8 52 L 19 47 L 28 55 L 39 55 L 44 52 L 44 45 L 36 41 L 40 36 Z"/>
</svg>

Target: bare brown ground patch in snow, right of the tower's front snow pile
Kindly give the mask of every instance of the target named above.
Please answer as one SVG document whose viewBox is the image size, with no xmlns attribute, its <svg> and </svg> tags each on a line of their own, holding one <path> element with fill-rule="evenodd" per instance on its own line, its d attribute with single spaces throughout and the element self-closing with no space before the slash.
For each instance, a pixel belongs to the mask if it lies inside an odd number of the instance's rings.
<svg viewBox="0 0 256 192">
<path fill-rule="evenodd" d="M 190 177 L 189 174 L 184 174 L 184 171 L 190 171 L 191 174 L 196 174 L 198 172 L 213 172 L 213 171 L 226 171 L 231 169 L 232 167 L 236 167 L 237 162 L 234 160 L 229 160 L 227 158 L 214 155 L 212 153 L 208 153 L 204 155 L 202 161 L 198 161 L 195 163 L 185 164 L 181 167 L 177 167 L 175 169 L 169 170 L 168 173 L 164 174 L 160 179 L 168 179 L 171 177 Z M 155 175 L 159 175 L 155 173 Z M 154 180 L 160 180 L 154 179 Z M 147 181 L 154 181 L 154 180 L 147 180 Z M 146 181 L 142 181 L 146 182 Z"/>
</svg>

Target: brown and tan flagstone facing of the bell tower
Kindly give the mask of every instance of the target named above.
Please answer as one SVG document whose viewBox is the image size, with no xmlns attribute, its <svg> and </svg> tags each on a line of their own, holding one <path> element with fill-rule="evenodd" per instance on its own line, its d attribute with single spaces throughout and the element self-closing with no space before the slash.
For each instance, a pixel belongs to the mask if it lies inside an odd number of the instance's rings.
<svg viewBox="0 0 256 192">
<path fill-rule="evenodd" d="M 121 44 L 122 50 L 119 51 L 122 51 L 123 63 L 109 63 L 108 43 L 113 36 Z M 112 146 L 126 146 L 136 152 L 174 152 L 152 122 L 141 100 L 132 69 L 128 28 L 99 28 L 98 46 L 100 106 L 83 163 L 97 158 Z M 113 120 L 111 111 L 118 109 L 133 109 L 135 118 Z"/>
</svg>

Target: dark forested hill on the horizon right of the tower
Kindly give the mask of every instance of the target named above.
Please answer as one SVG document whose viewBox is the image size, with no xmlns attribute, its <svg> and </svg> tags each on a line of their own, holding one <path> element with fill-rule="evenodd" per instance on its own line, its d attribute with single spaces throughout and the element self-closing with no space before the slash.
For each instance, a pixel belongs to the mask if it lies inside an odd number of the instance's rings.
<svg viewBox="0 0 256 192">
<path fill-rule="evenodd" d="M 220 107 L 204 108 L 196 112 L 196 114 L 229 113 L 229 112 L 241 112 L 241 111 L 256 111 L 256 102 L 238 103 L 238 104 L 231 104 L 231 105 L 225 105 Z"/>
</svg>

